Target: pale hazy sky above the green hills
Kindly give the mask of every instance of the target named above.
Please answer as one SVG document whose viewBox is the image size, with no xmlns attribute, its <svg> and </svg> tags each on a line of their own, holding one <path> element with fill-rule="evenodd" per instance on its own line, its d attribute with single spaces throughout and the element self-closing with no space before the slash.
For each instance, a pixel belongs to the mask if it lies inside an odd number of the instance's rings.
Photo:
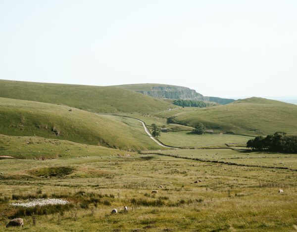
<svg viewBox="0 0 297 232">
<path fill-rule="evenodd" d="M 297 96 L 297 0 L 0 0 L 0 79 Z"/>
</svg>

